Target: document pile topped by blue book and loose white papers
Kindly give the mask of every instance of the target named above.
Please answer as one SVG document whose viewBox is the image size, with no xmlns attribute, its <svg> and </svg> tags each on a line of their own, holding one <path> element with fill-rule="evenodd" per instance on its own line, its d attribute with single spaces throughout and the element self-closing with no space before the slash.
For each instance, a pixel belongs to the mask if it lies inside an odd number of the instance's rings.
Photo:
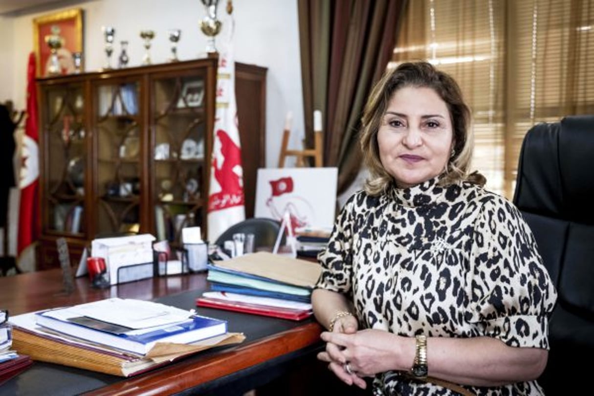
<svg viewBox="0 0 594 396">
<path fill-rule="evenodd" d="M 156 302 L 112 298 L 10 319 L 33 360 L 131 376 L 214 346 L 240 343 L 227 323 Z"/>
</svg>

